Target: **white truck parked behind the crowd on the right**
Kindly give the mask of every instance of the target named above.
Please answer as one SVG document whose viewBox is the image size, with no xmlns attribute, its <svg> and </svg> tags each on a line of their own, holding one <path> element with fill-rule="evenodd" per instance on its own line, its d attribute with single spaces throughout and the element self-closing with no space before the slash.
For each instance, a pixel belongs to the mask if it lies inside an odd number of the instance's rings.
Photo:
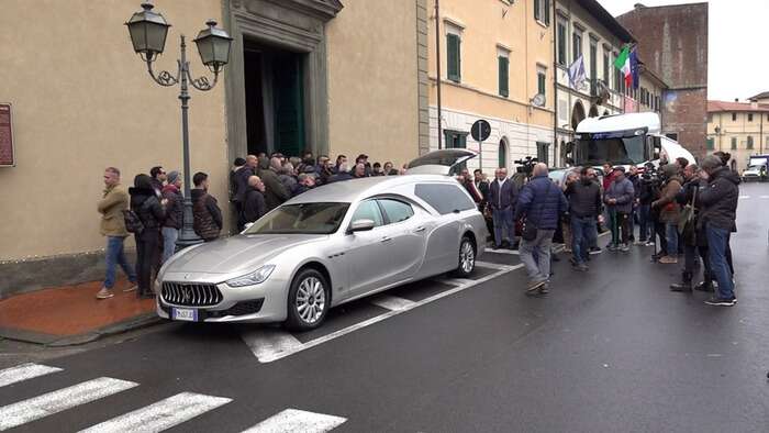
<svg viewBox="0 0 769 433">
<path fill-rule="evenodd" d="M 644 167 L 647 163 L 659 166 L 660 159 L 695 160 L 678 142 L 661 134 L 657 113 L 588 118 L 577 125 L 575 142 L 567 147 L 566 157 L 571 166 L 600 167 L 609 162 L 613 166 Z"/>
</svg>

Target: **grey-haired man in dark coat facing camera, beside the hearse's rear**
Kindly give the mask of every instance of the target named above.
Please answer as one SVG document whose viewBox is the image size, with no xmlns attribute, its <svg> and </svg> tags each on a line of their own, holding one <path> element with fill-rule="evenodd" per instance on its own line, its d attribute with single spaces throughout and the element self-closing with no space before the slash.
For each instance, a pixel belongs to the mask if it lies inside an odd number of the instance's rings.
<svg viewBox="0 0 769 433">
<path fill-rule="evenodd" d="M 498 168 L 494 176 L 497 179 L 489 186 L 489 207 L 494 221 L 494 244 L 497 248 L 509 248 L 515 244 L 513 212 L 519 190 L 515 182 L 508 179 L 506 168 Z"/>
</svg>

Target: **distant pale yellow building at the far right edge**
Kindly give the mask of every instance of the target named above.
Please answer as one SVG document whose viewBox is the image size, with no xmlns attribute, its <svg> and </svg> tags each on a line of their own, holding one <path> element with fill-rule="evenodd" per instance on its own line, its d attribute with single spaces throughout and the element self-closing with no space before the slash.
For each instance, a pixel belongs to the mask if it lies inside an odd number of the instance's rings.
<svg viewBox="0 0 769 433">
<path fill-rule="evenodd" d="M 707 101 L 707 152 L 716 151 L 731 153 L 740 173 L 751 155 L 769 154 L 769 103 Z"/>
</svg>

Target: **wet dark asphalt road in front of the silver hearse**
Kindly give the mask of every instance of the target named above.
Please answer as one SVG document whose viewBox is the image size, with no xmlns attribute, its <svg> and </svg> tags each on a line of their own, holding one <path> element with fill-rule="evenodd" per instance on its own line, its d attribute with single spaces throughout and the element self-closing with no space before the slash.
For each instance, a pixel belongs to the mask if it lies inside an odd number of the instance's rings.
<svg viewBox="0 0 769 433">
<path fill-rule="evenodd" d="M 472 280 L 356 302 L 313 333 L 174 323 L 0 371 L 0 430 L 766 432 L 769 186 L 740 193 L 734 308 L 670 292 L 679 267 L 650 247 L 587 274 L 561 254 L 543 299 L 517 256 L 487 254 Z M 289 349 L 259 358 L 269 344 Z"/>
</svg>

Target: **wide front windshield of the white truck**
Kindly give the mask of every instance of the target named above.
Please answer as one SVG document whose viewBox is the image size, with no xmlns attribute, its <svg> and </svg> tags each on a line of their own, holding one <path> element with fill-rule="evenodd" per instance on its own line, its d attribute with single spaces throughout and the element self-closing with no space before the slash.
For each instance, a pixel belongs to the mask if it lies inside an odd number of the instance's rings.
<svg viewBox="0 0 769 433">
<path fill-rule="evenodd" d="M 611 138 L 578 138 L 573 159 L 577 166 L 640 164 L 646 162 L 644 135 Z"/>
</svg>

